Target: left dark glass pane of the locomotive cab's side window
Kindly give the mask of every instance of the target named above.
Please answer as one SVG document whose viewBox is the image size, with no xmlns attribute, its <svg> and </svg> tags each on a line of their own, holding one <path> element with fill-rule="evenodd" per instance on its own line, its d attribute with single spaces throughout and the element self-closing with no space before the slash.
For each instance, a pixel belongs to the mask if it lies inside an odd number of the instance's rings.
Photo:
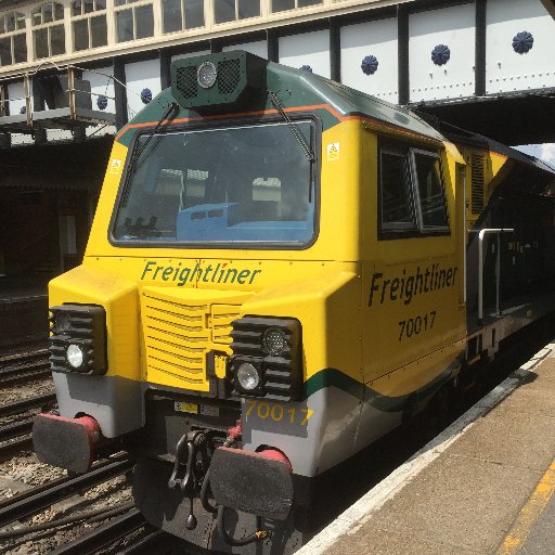
<svg viewBox="0 0 555 555">
<path fill-rule="evenodd" d="M 404 160 L 405 157 L 401 154 L 382 153 L 382 223 L 389 229 L 399 224 L 401 228 L 406 228 L 408 224 L 411 228 L 414 227 L 410 183 L 406 179 Z"/>
</svg>

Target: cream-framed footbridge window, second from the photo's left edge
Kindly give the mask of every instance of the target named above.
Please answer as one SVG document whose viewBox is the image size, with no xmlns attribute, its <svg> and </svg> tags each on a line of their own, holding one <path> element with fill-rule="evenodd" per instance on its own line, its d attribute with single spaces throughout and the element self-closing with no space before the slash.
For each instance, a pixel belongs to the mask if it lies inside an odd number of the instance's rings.
<svg viewBox="0 0 555 555">
<path fill-rule="evenodd" d="M 47 2 L 31 14 L 35 59 L 65 54 L 64 7 L 60 2 Z M 61 22 L 61 23 L 59 23 Z"/>
</svg>

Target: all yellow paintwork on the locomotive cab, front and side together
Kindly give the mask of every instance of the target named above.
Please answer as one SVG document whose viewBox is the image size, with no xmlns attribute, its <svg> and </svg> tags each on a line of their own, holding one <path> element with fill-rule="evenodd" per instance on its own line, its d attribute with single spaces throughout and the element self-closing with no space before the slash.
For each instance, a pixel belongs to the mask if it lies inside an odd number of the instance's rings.
<svg viewBox="0 0 555 555">
<path fill-rule="evenodd" d="M 415 144 L 413 137 L 408 139 Z M 327 159 L 332 143 L 340 144 L 339 155 Z M 441 149 L 437 141 L 416 144 Z M 216 374 L 223 377 L 233 319 L 287 317 L 302 325 L 305 379 L 338 369 L 383 395 L 409 393 L 453 362 L 465 333 L 464 231 L 456 231 L 464 230 L 464 207 L 455 210 L 454 202 L 455 175 L 464 160 L 451 143 L 442 151 L 449 236 L 378 241 L 377 134 L 351 118 L 322 135 L 320 231 L 312 246 L 203 250 L 109 243 L 128 155 L 115 143 L 83 266 L 51 283 L 51 305 L 105 307 L 112 375 L 207 391 L 206 353 L 216 351 Z M 391 279 L 433 264 L 451 269 L 449 286 L 410 304 L 369 307 L 376 272 Z M 433 310 L 434 333 L 399 341 L 400 321 Z"/>
</svg>

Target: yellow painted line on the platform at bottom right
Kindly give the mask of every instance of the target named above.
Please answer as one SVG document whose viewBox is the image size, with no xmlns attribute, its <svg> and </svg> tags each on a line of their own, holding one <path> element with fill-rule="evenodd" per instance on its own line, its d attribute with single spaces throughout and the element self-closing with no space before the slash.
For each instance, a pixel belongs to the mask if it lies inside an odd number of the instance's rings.
<svg viewBox="0 0 555 555">
<path fill-rule="evenodd" d="M 555 461 L 551 463 L 547 472 L 543 475 L 534 492 L 520 511 L 517 519 L 513 524 L 503 544 L 498 551 L 498 555 L 514 555 L 518 553 L 520 546 L 530 534 L 534 522 L 540 518 L 543 509 L 550 502 L 555 490 Z"/>
</svg>

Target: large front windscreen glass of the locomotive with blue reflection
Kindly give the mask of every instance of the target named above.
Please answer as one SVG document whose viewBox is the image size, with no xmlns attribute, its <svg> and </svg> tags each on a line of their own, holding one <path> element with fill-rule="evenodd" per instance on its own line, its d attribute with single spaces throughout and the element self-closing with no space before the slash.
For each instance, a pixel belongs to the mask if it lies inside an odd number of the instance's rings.
<svg viewBox="0 0 555 555">
<path fill-rule="evenodd" d="M 310 122 L 297 126 L 312 137 Z M 302 244 L 313 235 L 311 164 L 286 124 L 146 140 L 135 143 L 145 147 L 145 162 L 129 176 L 128 195 L 116 208 L 118 241 Z"/>
</svg>

